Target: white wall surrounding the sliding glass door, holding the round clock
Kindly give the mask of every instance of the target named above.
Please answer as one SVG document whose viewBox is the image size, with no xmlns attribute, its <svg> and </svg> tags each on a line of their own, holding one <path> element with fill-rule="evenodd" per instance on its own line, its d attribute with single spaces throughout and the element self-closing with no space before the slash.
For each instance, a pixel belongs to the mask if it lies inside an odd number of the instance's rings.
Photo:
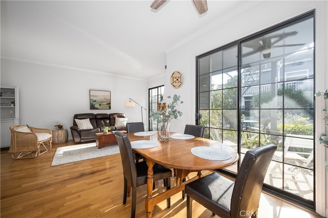
<svg viewBox="0 0 328 218">
<path fill-rule="evenodd" d="M 316 9 L 316 89 L 327 88 L 327 8 L 327 1 L 250 1 L 242 9 L 235 9 L 239 10 L 237 16 L 232 16 L 235 14 L 234 12 L 228 12 L 224 20 L 216 20 L 195 33 L 189 40 L 169 49 L 167 51 L 166 83 L 170 84 L 170 76 L 174 70 L 181 72 L 184 82 L 179 89 L 167 85 L 166 95 L 179 94 L 181 100 L 185 102 L 180 107 L 184 116 L 171 125 L 171 130 L 182 132 L 185 124 L 194 123 L 196 56 L 313 9 Z M 318 122 L 316 136 L 324 132 L 320 125 L 321 120 Z M 328 216 L 327 209 L 325 209 L 328 208 L 326 206 L 326 202 L 328 202 L 327 172 L 323 167 L 326 151 L 322 146 L 317 145 L 316 152 L 318 163 L 316 164 L 316 207 L 320 215 Z"/>
</svg>

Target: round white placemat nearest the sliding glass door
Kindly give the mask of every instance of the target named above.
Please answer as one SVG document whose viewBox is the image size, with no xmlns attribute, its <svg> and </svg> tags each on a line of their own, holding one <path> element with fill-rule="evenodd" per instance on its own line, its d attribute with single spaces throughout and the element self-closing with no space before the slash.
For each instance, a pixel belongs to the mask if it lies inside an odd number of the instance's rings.
<svg viewBox="0 0 328 218">
<path fill-rule="evenodd" d="M 232 157 L 230 152 L 214 147 L 200 146 L 190 151 L 193 155 L 208 160 L 228 160 Z"/>
</svg>

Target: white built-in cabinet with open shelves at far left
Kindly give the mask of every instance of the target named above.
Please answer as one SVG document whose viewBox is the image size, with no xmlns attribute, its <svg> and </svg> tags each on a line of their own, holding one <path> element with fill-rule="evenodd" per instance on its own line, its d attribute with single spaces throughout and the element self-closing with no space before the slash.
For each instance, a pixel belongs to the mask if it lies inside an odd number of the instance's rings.
<svg viewBox="0 0 328 218">
<path fill-rule="evenodd" d="M 10 130 L 12 125 L 19 124 L 19 87 L 0 87 L 0 120 L 1 120 L 1 148 L 10 147 Z"/>
</svg>

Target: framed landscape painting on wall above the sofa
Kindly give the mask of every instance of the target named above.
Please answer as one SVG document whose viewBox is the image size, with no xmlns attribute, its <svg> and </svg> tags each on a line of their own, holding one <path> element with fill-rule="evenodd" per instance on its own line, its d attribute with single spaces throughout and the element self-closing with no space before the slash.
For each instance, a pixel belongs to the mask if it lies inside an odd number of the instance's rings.
<svg viewBox="0 0 328 218">
<path fill-rule="evenodd" d="M 90 90 L 90 110 L 111 109 L 111 91 Z"/>
</svg>

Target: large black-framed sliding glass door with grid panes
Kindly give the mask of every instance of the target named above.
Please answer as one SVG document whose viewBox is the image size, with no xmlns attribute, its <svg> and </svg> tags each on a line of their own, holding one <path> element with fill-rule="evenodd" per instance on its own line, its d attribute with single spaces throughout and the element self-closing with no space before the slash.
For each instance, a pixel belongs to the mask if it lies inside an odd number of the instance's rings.
<svg viewBox="0 0 328 218">
<path fill-rule="evenodd" d="M 239 152 L 276 144 L 264 187 L 314 208 L 314 13 L 196 58 L 204 137 Z M 239 164 L 240 164 L 239 162 Z M 236 175 L 238 164 L 225 169 Z"/>
</svg>

